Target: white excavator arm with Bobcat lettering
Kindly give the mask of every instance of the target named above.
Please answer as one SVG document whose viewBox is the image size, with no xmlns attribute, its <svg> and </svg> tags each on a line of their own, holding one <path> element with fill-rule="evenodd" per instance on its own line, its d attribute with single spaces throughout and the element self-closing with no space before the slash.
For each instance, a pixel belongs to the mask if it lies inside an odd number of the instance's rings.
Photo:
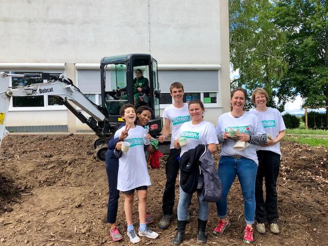
<svg viewBox="0 0 328 246">
<path fill-rule="evenodd" d="M 42 77 L 49 79 L 47 83 L 33 84 L 29 86 L 10 88 L 10 77 Z M 108 138 L 110 134 L 110 124 L 107 111 L 92 103 L 80 90 L 75 87 L 69 78 L 63 74 L 51 75 L 42 74 L 8 74 L 0 72 L 0 145 L 3 138 L 8 134 L 6 131 L 6 118 L 8 115 L 10 97 L 12 96 L 56 96 L 81 122 L 87 124 L 99 138 Z M 79 108 L 87 112 L 87 118 L 71 104 L 74 103 Z"/>
</svg>

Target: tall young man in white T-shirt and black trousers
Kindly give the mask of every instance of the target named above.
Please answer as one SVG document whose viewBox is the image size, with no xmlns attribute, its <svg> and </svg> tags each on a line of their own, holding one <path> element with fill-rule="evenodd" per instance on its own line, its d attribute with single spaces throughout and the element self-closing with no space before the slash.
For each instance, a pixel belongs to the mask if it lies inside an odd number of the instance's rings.
<svg viewBox="0 0 328 246">
<path fill-rule="evenodd" d="M 175 82 L 170 86 L 170 94 L 173 98 L 173 105 L 167 107 L 163 112 L 163 118 L 165 119 L 163 134 L 158 137 L 160 142 L 163 142 L 170 133 L 171 126 L 171 145 L 170 154 L 166 162 L 166 185 L 163 193 L 162 210 L 163 217 L 159 221 L 158 227 L 160 229 L 167 229 L 170 226 L 170 222 L 173 219 L 173 206 L 175 198 L 175 180 L 179 172 L 179 156 L 180 149 L 177 150 L 173 146 L 174 139 L 177 137 L 177 133 L 180 126 L 187 121 L 190 121 L 190 115 L 188 111 L 188 104 L 183 103 L 183 85 L 179 82 Z"/>
</svg>

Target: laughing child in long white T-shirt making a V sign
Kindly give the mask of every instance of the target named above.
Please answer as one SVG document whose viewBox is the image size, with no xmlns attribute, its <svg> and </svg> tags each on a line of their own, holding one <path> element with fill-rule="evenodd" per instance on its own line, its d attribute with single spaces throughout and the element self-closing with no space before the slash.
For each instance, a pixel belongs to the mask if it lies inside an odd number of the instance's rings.
<svg viewBox="0 0 328 246">
<path fill-rule="evenodd" d="M 122 136 L 124 141 L 130 143 L 127 152 L 122 152 L 122 141 L 118 142 L 114 154 L 118 159 L 117 190 L 124 193 L 124 211 L 128 223 L 127 234 L 132 243 L 140 242 L 134 231 L 132 223 L 132 206 L 134 190 L 138 194 L 139 208 L 139 236 L 157 238 L 158 234 L 146 226 L 147 188 L 151 185 L 145 156 L 144 137 L 145 130 L 135 125 L 136 113 L 131 104 L 126 104 L 120 109 L 120 116 L 125 120 L 124 127 L 115 132 L 115 137 Z"/>
</svg>

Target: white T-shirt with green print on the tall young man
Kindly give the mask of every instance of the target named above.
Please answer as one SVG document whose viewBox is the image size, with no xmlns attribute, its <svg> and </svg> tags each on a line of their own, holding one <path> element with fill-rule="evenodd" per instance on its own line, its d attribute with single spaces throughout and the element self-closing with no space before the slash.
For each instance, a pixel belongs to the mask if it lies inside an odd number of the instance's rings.
<svg viewBox="0 0 328 246">
<path fill-rule="evenodd" d="M 190 121 L 190 115 L 188 110 L 188 104 L 185 103 L 183 108 L 175 108 L 173 105 L 167 107 L 163 112 L 163 117 L 167 118 L 171 122 L 171 144 L 170 149 L 174 149 L 174 139 L 177 138 L 177 134 L 181 125 L 187 121 Z"/>
</svg>

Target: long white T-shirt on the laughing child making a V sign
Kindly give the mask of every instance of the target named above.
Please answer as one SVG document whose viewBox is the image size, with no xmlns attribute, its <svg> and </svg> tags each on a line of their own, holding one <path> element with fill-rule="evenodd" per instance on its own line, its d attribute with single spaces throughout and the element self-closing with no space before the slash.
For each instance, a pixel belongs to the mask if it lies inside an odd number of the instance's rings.
<svg viewBox="0 0 328 246">
<path fill-rule="evenodd" d="M 115 132 L 119 137 L 125 127 Z M 130 142 L 128 152 L 122 152 L 118 159 L 117 190 L 130 191 L 140 186 L 151 186 L 144 151 L 145 129 L 141 126 L 130 128 L 125 141 Z"/>
</svg>

